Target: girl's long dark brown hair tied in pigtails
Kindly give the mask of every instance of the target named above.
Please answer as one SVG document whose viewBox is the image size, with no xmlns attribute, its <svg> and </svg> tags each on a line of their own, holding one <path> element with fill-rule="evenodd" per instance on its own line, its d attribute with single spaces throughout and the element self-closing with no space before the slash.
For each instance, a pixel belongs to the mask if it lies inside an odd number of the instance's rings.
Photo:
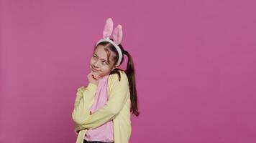
<svg viewBox="0 0 256 143">
<path fill-rule="evenodd" d="M 113 39 L 111 39 L 111 40 L 113 41 Z M 109 50 L 111 50 L 115 53 L 115 55 L 113 55 L 112 58 L 113 58 L 113 61 L 114 61 L 114 65 L 116 65 L 117 61 L 119 59 L 119 54 L 116 51 L 116 48 L 114 47 L 114 45 L 111 44 L 109 41 L 101 41 L 99 44 L 97 44 L 94 47 L 94 50 L 97 48 L 98 45 L 104 46 L 104 50 L 106 51 L 106 53 L 108 55 L 108 59 L 107 59 L 108 62 L 109 62 L 109 57 L 110 57 L 110 51 Z M 138 117 L 140 112 L 138 111 L 138 107 L 137 107 L 137 90 L 136 90 L 136 84 L 135 84 L 134 63 L 132 61 L 132 56 L 128 53 L 128 51 L 124 50 L 122 44 L 119 44 L 118 46 L 122 50 L 122 54 L 125 54 L 128 57 L 127 69 L 124 72 L 127 74 L 128 81 L 129 81 L 129 92 L 130 92 L 130 99 L 131 99 L 131 109 L 130 109 L 130 111 Z M 124 61 L 124 56 L 122 56 L 122 60 L 120 62 L 120 65 L 122 64 L 123 61 Z M 121 76 L 120 76 L 119 70 L 123 71 L 122 69 L 116 68 L 116 69 L 112 70 L 110 72 L 110 74 L 118 74 L 119 75 L 119 81 L 120 81 Z"/>
</svg>

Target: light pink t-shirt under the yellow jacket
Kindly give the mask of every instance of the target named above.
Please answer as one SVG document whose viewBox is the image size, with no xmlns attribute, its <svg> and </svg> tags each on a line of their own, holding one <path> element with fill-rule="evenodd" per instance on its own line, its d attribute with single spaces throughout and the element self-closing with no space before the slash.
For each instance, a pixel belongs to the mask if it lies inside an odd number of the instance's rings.
<svg viewBox="0 0 256 143">
<path fill-rule="evenodd" d="M 91 114 L 96 112 L 98 109 L 101 109 L 101 107 L 104 107 L 104 104 L 106 104 L 108 100 L 108 77 L 109 75 L 106 75 L 105 77 L 102 77 L 102 79 L 99 79 L 94 102 L 91 107 Z M 113 121 L 111 120 L 106 122 L 95 129 L 88 129 L 84 139 L 86 139 L 86 141 L 114 142 Z"/>
</svg>

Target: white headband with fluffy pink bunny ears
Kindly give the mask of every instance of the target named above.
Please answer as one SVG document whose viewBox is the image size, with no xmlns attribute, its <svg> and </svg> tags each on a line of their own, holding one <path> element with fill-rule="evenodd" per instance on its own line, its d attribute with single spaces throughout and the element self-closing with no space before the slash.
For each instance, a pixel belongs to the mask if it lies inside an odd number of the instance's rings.
<svg viewBox="0 0 256 143">
<path fill-rule="evenodd" d="M 117 65 L 120 64 L 121 60 L 122 60 L 122 50 L 120 49 L 120 47 L 118 46 L 121 41 L 122 41 L 122 37 L 123 37 L 123 31 L 122 31 L 122 26 L 120 24 L 118 24 L 116 26 L 116 28 L 114 29 L 113 32 L 113 41 L 111 39 L 109 39 L 109 37 L 111 36 L 113 31 L 113 21 L 111 18 L 106 19 L 106 24 L 104 26 L 104 31 L 103 31 L 103 39 L 100 39 L 96 45 L 98 45 L 100 42 L 102 41 L 109 41 L 109 43 L 113 44 L 114 47 L 116 48 L 116 51 L 118 52 L 119 55 L 119 59 L 117 61 Z"/>
</svg>

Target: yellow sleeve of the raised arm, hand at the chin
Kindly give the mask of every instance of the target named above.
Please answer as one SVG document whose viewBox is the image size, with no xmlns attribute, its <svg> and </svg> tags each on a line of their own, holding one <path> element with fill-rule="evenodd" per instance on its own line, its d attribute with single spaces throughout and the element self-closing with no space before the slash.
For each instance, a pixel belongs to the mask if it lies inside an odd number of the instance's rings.
<svg viewBox="0 0 256 143">
<path fill-rule="evenodd" d="M 78 129 L 78 124 L 85 122 L 90 114 L 96 89 L 97 85 L 92 83 L 89 83 L 87 87 L 80 87 L 77 89 L 75 105 L 72 112 L 76 130 Z"/>
</svg>

